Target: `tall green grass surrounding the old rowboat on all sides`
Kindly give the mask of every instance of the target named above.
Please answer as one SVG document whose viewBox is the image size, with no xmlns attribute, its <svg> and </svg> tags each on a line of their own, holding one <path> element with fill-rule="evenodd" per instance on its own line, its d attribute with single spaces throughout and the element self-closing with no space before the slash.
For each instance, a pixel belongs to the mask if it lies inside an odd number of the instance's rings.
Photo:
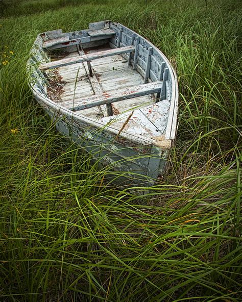
<svg viewBox="0 0 242 302">
<path fill-rule="evenodd" d="M 0 300 L 242 299 L 240 2 L 0 5 Z M 105 183 L 108 169 L 56 133 L 26 80 L 38 33 L 105 19 L 152 41 L 179 78 L 167 173 L 144 196 Z"/>
</svg>

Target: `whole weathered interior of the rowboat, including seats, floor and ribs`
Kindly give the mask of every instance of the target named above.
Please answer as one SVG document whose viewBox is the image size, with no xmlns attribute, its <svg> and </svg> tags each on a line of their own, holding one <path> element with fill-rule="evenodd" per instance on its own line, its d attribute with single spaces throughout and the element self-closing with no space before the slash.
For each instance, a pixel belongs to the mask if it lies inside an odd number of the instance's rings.
<svg viewBox="0 0 242 302">
<path fill-rule="evenodd" d="M 165 62 L 129 29 L 99 23 L 85 31 L 40 35 L 47 55 L 39 66 L 46 96 L 75 114 L 112 121 L 116 129 L 128 117 L 126 128 L 163 135 L 170 110 Z"/>
</svg>

